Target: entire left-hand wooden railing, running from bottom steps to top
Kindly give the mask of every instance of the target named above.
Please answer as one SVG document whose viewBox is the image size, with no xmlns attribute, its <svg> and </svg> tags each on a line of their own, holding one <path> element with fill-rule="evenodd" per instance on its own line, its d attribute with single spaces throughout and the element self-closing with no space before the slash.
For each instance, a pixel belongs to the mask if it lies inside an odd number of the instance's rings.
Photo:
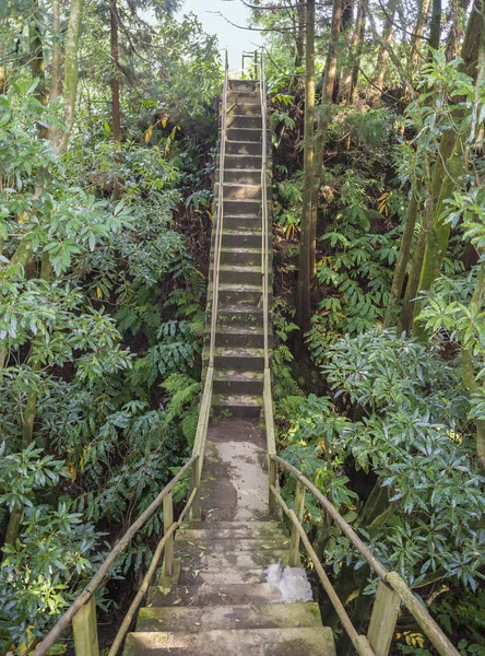
<svg viewBox="0 0 485 656">
<path fill-rule="evenodd" d="M 84 589 L 78 595 L 71 606 L 59 618 L 49 633 L 35 647 L 29 649 L 31 656 L 44 656 L 56 644 L 58 639 L 72 623 L 74 634 L 74 651 L 75 656 L 98 656 L 98 640 L 97 640 L 97 622 L 96 622 L 96 600 L 95 594 L 99 586 L 109 575 L 109 570 L 116 563 L 118 555 L 129 544 L 130 540 L 137 535 L 142 526 L 154 515 L 156 511 L 163 506 L 164 513 L 164 535 L 159 540 L 149 570 L 140 585 L 140 588 L 130 605 L 130 608 L 118 630 L 115 641 L 108 652 L 108 656 L 116 656 L 121 647 L 122 641 L 130 628 L 130 624 L 146 594 L 150 583 L 155 574 L 162 555 L 163 574 L 167 577 L 174 574 L 174 534 L 179 528 L 187 513 L 190 511 L 192 519 L 200 518 L 200 482 L 202 476 L 202 467 L 205 454 L 205 445 L 208 438 L 209 418 L 212 405 L 212 388 L 214 377 L 214 349 L 215 349 L 215 330 L 217 317 L 217 294 L 218 294 L 218 273 L 221 267 L 221 245 L 222 245 L 222 227 L 223 227 L 223 184 L 224 184 L 224 160 L 226 144 L 226 125 L 227 125 L 227 90 L 228 90 L 228 61 L 227 50 L 225 57 L 224 85 L 223 85 L 223 102 L 221 117 L 221 144 L 220 144 L 220 178 L 218 178 L 218 206 L 216 219 L 216 232 L 214 239 L 214 266 L 213 266 L 213 283 L 212 283 L 212 315 L 211 315 L 211 332 L 210 332 L 210 350 L 209 350 L 209 366 L 205 374 L 205 382 L 202 393 L 202 400 L 199 409 L 199 421 L 197 425 L 196 440 L 193 443 L 192 456 L 180 469 L 150 506 L 140 515 L 140 517 L 128 528 L 123 537 L 115 544 L 103 563 L 99 565 L 95 575 L 91 578 Z M 174 519 L 174 497 L 173 490 L 175 485 L 191 470 L 191 493 L 184 506 L 177 520 Z"/>
</svg>

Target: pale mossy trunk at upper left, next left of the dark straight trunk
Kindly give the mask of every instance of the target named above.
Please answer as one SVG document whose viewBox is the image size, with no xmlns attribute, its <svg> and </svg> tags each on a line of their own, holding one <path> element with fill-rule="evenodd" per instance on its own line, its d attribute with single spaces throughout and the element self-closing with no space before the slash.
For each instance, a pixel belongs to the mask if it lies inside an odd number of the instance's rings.
<svg viewBox="0 0 485 656">
<path fill-rule="evenodd" d="M 66 150 L 69 134 L 74 125 L 75 98 L 78 96 L 79 80 L 79 44 L 81 37 L 83 11 L 84 0 L 71 0 L 64 50 L 64 122 L 68 126 L 68 132 L 63 132 L 62 134 L 62 139 L 58 149 L 59 152 Z"/>
</svg>

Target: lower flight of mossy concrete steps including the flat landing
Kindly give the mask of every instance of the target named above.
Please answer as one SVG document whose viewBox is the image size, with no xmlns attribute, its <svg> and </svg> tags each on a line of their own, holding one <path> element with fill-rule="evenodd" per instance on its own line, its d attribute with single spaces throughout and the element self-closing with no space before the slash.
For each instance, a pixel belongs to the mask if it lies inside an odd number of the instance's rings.
<svg viewBox="0 0 485 656">
<path fill-rule="evenodd" d="M 268 516 L 264 461 L 264 435 L 250 421 L 211 426 L 202 520 L 177 532 L 174 579 L 159 569 L 123 656 L 335 656 L 318 605 L 284 602 L 267 582 L 270 564 L 287 562 L 289 535 Z"/>
</svg>

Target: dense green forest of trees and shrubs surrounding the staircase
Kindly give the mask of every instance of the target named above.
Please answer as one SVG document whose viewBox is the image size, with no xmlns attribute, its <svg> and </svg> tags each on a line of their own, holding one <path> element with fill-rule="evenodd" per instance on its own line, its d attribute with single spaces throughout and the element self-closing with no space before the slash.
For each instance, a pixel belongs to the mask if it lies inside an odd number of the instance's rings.
<svg viewBox="0 0 485 656">
<path fill-rule="evenodd" d="M 264 38 L 279 447 L 485 654 L 483 1 L 237 1 Z M 2 654 L 193 444 L 224 56 L 180 9 L 0 2 Z M 305 523 L 368 620 L 368 567 L 310 495 Z M 106 625 L 162 529 L 118 560 Z M 435 652 L 403 613 L 392 654 Z"/>
</svg>

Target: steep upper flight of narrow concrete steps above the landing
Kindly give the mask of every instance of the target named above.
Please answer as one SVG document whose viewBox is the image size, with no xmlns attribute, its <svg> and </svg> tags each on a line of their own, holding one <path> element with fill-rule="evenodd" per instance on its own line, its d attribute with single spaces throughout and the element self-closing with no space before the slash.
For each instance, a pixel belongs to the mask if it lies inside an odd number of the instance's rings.
<svg viewBox="0 0 485 656">
<path fill-rule="evenodd" d="M 262 406 L 261 120 L 259 83 L 252 80 L 229 81 L 214 358 L 213 412 L 216 417 L 256 418 Z M 217 162 L 216 179 L 218 165 Z M 218 183 L 214 190 L 214 216 L 217 195 Z M 214 235 L 215 230 L 213 239 Z M 205 359 L 211 308 L 212 281 L 209 286 Z"/>
</svg>

